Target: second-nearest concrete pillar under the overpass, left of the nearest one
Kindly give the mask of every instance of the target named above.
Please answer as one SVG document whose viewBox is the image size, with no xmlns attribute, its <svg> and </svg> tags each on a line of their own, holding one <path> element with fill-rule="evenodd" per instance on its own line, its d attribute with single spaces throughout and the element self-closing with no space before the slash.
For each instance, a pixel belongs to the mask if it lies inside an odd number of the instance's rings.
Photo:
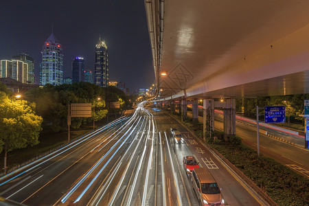
<svg viewBox="0 0 309 206">
<path fill-rule="evenodd" d="M 203 137 L 212 137 L 214 134 L 214 100 L 203 100 Z"/>
</svg>

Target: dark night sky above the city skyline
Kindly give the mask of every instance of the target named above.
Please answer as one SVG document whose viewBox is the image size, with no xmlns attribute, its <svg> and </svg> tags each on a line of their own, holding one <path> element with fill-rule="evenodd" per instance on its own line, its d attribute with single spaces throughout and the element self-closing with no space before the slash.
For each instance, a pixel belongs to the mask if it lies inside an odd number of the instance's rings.
<svg viewBox="0 0 309 206">
<path fill-rule="evenodd" d="M 5 0 L 0 11 L 0 59 L 19 52 L 34 58 L 36 82 L 45 40 L 58 38 L 64 54 L 64 76 L 71 62 L 84 57 L 94 72 L 99 36 L 108 47 L 109 80 L 133 89 L 150 87 L 155 79 L 144 0 Z"/>
</svg>

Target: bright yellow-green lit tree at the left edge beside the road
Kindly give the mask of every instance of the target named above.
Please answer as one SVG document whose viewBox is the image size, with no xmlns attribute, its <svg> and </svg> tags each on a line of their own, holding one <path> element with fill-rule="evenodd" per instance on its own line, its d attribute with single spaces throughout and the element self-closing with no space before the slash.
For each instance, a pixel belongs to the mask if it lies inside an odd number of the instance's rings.
<svg viewBox="0 0 309 206">
<path fill-rule="evenodd" d="M 0 152 L 4 149 L 4 172 L 7 153 L 38 144 L 42 117 L 34 113 L 36 104 L 25 100 L 11 100 L 0 91 Z"/>
</svg>

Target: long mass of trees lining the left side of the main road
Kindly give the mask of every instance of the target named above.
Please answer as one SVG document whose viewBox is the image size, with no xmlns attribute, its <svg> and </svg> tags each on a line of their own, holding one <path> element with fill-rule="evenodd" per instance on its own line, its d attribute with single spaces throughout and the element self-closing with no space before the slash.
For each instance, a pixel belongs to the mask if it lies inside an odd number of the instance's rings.
<svg viewBox="0 0 309 206">
<path fill-rule="evenodd" d="M 95 124 L 102 126 L 131 108 L 128 96 L 116 87 L 100 87 L 89 82 L 61 84 L 30 89 L 14 97 L 0 83 L 0 173 L 4 171 L 5 153 L 7 168 L 67 142 L 67 115 L 70 103 L 91 103 Z M 110 102 L 119 102 L 120 108 L 111 108 Z M 93 129 L 93 118 L 71 118 L 71 139 Z M 6 149 L 5 149 L 6 148 Z"/>
</svg>

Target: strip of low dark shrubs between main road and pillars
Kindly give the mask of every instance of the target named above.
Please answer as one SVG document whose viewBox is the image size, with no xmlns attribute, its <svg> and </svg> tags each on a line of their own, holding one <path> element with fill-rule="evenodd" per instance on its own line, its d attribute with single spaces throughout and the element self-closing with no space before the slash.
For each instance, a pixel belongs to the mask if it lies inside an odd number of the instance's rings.
<svg viewBox="0 0 309 206">
<path fill-rule="evenodd" d="M 203 127 L 201 129 L 200 124 L 187 121 L 185 125 L 203 139 Z M 278 205 L 309 205 L 308 178 L 269 157 L 258 157 L 255 150 L 241 143 L 240 137 L 230 136 L 225 141 L 222 132 L 214 131 L 213 135 L 204 141 L 262 188 Z"/>
</svg>

